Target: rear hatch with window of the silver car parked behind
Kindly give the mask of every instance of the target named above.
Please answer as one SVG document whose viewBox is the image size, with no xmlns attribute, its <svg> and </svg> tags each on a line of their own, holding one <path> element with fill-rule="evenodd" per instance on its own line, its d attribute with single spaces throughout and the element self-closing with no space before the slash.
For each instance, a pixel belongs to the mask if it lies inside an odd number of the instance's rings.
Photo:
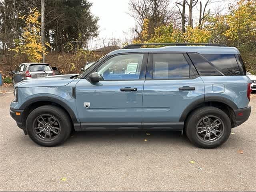
<svg viewBox="0 0 256 192">
<path fill-rule="evenodd" d="M 52 68 L 49 64 L 31 64 L 28 71 L 32 78 L 52 76 Z"/>
</svg>

